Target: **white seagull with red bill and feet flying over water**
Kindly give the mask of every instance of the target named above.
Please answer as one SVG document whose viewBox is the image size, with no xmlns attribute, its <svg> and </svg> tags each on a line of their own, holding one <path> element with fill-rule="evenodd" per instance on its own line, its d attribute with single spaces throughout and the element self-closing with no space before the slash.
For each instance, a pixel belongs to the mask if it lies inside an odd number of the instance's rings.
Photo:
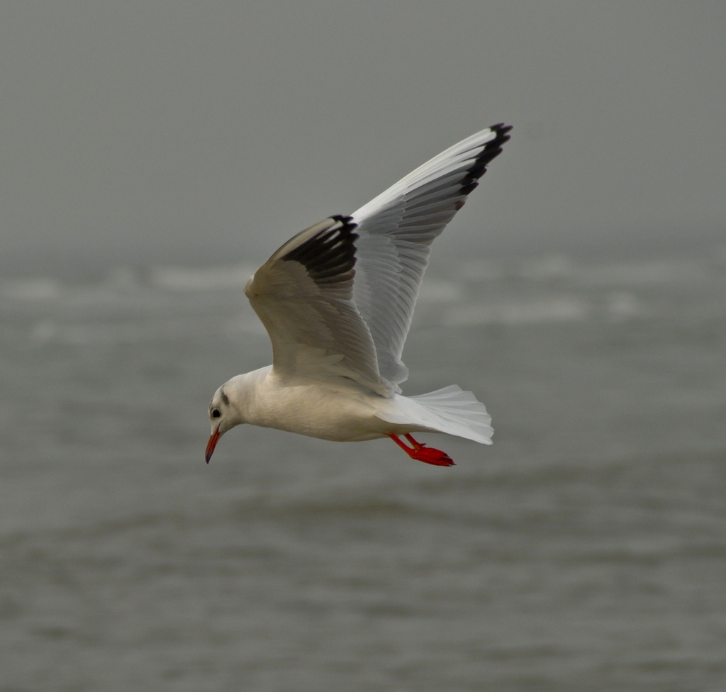
<svg viewBox="0 0 726 692">
<path fill-rule="evenodd" d="M 333 441 L 390 437 L 412 459 L 437 466 L 454 461 L 411 433 L 492 444 L 492 418 L 472 392 L 452 385 L 403 396 L 399 385 L 431 243 L 510 129 L 499 123 L 463 139 L 351 216 L 298 233 L 257 269 L 245 295 L 272 341 L 272 365 L 214 393 L 207 463 L 241 423 Z"/>
</svg>

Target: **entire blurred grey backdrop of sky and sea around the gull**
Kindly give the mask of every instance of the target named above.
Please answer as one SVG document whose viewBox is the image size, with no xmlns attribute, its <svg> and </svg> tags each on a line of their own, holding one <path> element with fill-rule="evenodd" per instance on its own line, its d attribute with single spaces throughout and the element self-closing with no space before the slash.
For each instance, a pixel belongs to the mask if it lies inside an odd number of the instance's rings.
<svg viewBox="0 0 726 692">
<path fill-rule="evenodd" d="M 0 691 L 721 690 L 726 5 L 0 6 Z M 404 393 L 494 445 L 237 428 L 295 232 L 514 126 Z"/>
</svg>

